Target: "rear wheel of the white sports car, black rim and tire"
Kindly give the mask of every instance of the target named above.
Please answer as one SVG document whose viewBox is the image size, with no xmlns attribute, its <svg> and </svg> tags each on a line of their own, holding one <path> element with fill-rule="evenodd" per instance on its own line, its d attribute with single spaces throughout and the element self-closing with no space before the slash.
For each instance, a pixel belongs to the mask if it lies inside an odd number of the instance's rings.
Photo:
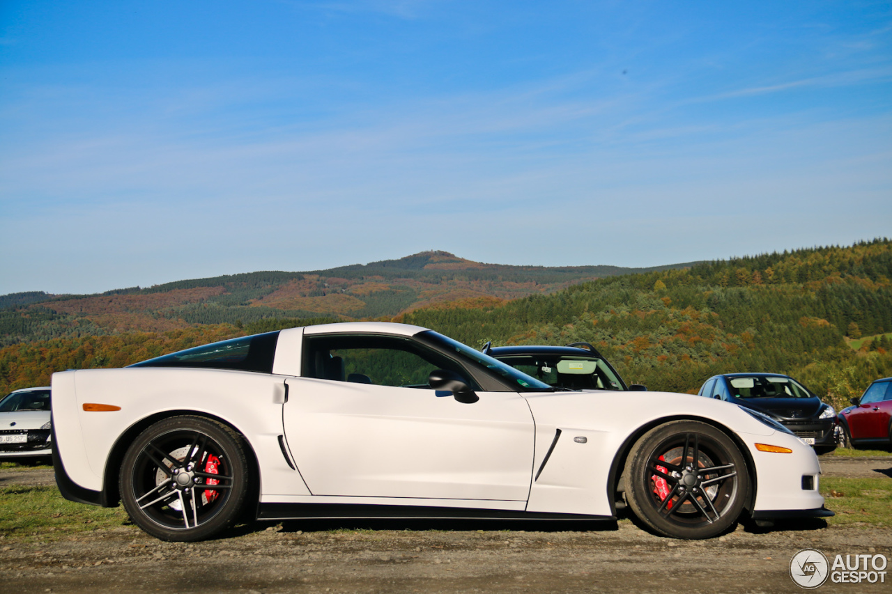
<svg viewBox="0 0 892 594">
<path fill-rule="evenodd" d="M 206 540 L 244 509 L 242 437 L 203 417 L 170 417 L 140 433 L 121 464 L 120 496 L 134 524 L 161 540 Z"/>
</svg>

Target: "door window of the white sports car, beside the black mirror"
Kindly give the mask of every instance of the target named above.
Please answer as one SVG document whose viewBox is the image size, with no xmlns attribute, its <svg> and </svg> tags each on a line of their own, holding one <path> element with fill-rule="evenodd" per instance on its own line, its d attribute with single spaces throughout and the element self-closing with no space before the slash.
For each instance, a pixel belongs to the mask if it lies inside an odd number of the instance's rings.
<svg viewBox="0 0 892 594">
<path fill-rule="evenodd" d="M 302 375 L 335 382 L 430 388 L 427 377 L 434 369 L 450 369 L 470 381 L 451 359 L 393 336 L 308 336 L 303 353 Z"/>
</svg>

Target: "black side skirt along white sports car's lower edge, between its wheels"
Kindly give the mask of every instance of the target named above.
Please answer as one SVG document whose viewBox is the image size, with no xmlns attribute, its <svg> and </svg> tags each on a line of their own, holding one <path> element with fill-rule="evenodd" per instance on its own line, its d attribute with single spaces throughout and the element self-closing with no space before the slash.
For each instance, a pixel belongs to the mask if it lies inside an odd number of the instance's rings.
<svg viewBox="0 0 892 594">
<path fill-rule="evenodd" d="M 599 520 L 616 521 L 616 516 L 584 514 L 549 514 L 470 507 L 370 506 L 335 503 L 261 503 L 259 520 L 294 520 L 301 518 L 427 518 L 492 520 Z"/>
</svg>

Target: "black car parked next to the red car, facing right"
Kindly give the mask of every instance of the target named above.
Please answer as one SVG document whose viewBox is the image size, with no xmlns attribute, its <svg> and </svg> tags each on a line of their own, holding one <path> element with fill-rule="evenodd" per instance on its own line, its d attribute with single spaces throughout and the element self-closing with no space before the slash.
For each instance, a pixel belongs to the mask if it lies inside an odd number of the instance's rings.
<svg viewBox="0 0 892 594">
<path fill-rule="evenodd" d="M 714 375 L 700 387 L 698 394 L 772 417 L 817 451 L 836 450 L 836 410 L 789 375 Z"/>
</svg>

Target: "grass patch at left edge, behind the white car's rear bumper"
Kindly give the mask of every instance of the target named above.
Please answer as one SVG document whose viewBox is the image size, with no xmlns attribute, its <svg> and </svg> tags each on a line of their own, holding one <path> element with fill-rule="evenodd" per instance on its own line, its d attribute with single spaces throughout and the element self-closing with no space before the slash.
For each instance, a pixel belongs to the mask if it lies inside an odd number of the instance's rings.
<svg viewBox="0 0 892 594">
<path fill-rule="evenodd" d="M 62 498 L 55 487 L 0 488 L 0 534 L 63 537 L 129 524 L 123 507 L 96 507 Z"/>
</svg>

